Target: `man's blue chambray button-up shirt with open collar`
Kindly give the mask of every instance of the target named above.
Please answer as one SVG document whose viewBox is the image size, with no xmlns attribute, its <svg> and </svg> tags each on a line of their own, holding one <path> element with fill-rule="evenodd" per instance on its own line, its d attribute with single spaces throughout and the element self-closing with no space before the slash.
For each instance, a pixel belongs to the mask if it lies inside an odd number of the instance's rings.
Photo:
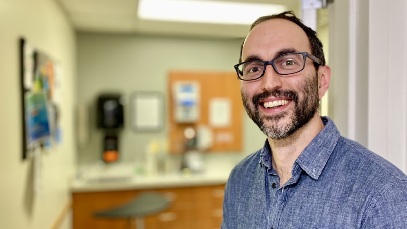
<svg viewBox="0 0 407 229">
<path fill-rule="evenodd" d="M 222 229 L 407 228 L 407 176 L 321 118 L 283 186 L 267 140 L 232 170 Z"/>
</svg>

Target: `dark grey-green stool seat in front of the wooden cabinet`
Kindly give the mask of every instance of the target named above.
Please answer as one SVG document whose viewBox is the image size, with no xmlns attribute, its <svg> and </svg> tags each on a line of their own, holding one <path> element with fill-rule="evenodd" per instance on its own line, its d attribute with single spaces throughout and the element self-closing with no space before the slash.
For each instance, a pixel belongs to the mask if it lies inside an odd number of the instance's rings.
<svg viewBox="0 0 407 229">
<path fill-rule="evenodd" d="M 141 193 L 132 201 L 105 211 L 96 212 L 97 217 L 106 218 L 141 218 L 166 210 L 170 206 L 170 201 L 163 195 L 146 192 Z"/>
</svg>

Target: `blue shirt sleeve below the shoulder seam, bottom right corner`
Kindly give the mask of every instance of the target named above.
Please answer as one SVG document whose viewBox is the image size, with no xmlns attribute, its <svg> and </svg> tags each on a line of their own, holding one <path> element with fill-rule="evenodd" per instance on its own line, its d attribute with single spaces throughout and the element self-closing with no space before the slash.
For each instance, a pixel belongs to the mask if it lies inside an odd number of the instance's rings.
<svg viewBox="0 0 407 229">
<path fill-rule="evenodd" d="M 362 228 L 407 228 L 407 181 L 390 187 L 376 202 Z"/>
</svg>

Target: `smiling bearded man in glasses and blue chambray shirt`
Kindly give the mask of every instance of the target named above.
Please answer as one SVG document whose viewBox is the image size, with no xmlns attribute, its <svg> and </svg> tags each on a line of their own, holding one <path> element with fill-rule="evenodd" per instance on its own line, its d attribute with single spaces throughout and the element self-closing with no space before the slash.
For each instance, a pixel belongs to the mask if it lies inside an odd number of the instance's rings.
<svg viewBox="0 0 407 229">
<path fill-rule="evenodd" d="M 267 140 L 230 174 L 222 229 L 407 228 L 407 176 L 319 116 L 331 70 L 313 30 L 292 12 L 261 17 L 239 62 Z"/>
</svg>

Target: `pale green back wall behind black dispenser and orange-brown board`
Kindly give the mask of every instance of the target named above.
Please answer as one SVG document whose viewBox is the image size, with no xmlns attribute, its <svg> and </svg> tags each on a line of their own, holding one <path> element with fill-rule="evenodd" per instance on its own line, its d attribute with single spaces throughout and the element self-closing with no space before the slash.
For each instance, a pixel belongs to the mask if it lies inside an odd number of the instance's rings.
<svg viewBox="0 0 407 229">
<path fill-rule="evenodd" d="M 242 39 L 79 33 L 78 101 L 91 107 L 90 140 L 87 146 L 79 149 L 79 163 L 101 158 L 103 134 L 95 124 L 95 104 L 99 93 L 121 92 L 130 96 L 138 91 L 158 91 L 166 95 L 170 70 L 234 71 L 241 43 Z M 168 117 L 167 113 L 165 115 Z M 218 155 L 213 161 L 223 157 L 226 162 L 237 163 L 236 157 L 241 158 L 263 146 L 266 137 L 245 113 L 244 117 L 242 152 Z M 159 133 L 134 132 L 129 119 L 130 107 L 125 107 L 125 128 L 119 135 L 122 161 L 139 158 L 149 140 L 163 139 L 168 132 L 168 129 Z"/>
</svg>

